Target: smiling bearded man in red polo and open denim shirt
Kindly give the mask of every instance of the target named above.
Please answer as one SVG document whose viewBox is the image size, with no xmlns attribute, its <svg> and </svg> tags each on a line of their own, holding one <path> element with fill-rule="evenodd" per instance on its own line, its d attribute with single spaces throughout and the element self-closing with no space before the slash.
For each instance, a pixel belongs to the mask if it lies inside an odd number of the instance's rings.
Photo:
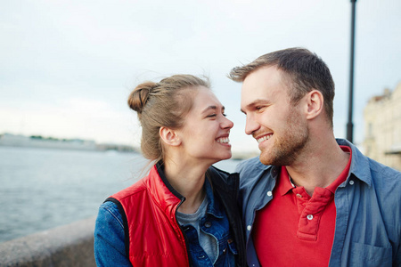
<svg viewBox="0 0 401 267">
<path fill-rule="evenodd" d="M 246 134 L 243 223 L 250 266 L 400 266 L 401 173 L 333 134 L 334 83 L 307 49 L 234 68 Z"/>
</svg>

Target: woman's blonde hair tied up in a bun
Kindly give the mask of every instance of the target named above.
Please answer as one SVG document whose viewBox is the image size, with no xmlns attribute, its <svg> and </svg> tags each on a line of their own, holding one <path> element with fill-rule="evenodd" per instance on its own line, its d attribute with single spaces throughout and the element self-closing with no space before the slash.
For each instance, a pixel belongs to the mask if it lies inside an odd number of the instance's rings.
<svg viewBox="0 0 401 267">
<path fill-rule="evenodd" d="M 209 79 L 181 74 L 164 78 L 159 83 L 144 82 L 129 94 L 128 106 L 137 112 L 142 126 L 144 158 L 164 159 L 160 127 L 179 129 L 184 125 L 184 117 L 192 109 L 198 86 L 210 88 Z"/>
</svg>

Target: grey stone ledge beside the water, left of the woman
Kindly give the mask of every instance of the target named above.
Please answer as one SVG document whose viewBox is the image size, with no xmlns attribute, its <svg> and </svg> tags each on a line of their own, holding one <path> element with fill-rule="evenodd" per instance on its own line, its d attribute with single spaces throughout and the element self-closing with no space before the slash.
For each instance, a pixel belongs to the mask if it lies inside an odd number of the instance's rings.
<svg viewBox="0 0 401 267">
<path fill-rule="evenodd" d="M 0 243 L 0 266 L 96 266 L 95 217 Z"/>
</svg>

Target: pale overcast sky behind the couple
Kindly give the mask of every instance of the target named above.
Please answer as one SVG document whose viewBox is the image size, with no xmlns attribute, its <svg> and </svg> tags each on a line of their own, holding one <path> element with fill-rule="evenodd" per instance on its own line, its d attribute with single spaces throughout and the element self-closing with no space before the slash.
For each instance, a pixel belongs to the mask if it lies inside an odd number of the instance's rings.
<svg viewBox="0 0 401 267">
<path fill-rule="evenodd" d="M 275 50 L 302 46 L 336 84 L 334 134 L 346 136 L 349 0 L 0 2 L 0 134 L 41 134 L 137 145 L 127 95 L 144 80 L 207 75 L 233 120 L 233 150 L 258 150 L 244 134 L 241 84 L 226 74 Z M 354 142 L 363 109 L 401 81 L 401 1 L 356 3 Z"/>
</svg>

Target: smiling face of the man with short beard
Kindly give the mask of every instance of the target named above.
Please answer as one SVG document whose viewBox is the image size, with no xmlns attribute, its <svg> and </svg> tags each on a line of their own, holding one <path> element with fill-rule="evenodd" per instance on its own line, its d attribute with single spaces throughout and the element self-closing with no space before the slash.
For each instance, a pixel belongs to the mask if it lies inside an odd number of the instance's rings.
<svg viewBox="0 0 401 267">
<path fill-rule="evenodd" d="M 308 141 L 307 120 L 301 107 L 291 103 L 287 90 L 282 72 L 274 66 L 251 72 L 242 84 L 245 133 L 257 140 L 265 165 L 291 165 Z"/>
</svg>

